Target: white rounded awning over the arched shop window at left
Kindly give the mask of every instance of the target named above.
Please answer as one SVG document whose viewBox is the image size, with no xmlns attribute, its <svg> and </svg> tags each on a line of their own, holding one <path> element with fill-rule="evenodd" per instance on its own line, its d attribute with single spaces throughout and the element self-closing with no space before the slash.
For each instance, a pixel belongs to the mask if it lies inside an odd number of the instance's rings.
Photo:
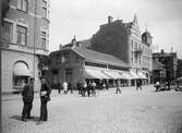
<svg viewBox="0 0 182 133">
<path fill-rule="evenodd" d="M 13 68 L 13 74 L 17 76 L 31 76 L 31 72 L 27 65 L 23 62 L 15 63 Z"/>
</svg>

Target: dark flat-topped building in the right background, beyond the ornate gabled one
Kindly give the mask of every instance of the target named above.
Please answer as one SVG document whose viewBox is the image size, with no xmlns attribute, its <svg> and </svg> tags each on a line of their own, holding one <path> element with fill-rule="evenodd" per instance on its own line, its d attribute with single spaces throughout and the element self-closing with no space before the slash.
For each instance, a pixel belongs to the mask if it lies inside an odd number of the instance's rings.
<svg viewBox="0 0 182 133">
<path fill-rule="evenodd" d="M 177 78 L 178 59 L 177 52 L 167 53 L 163 50 L 153 53 L 153 59 L 166 65 L 166 81 Z"/>
</svg>

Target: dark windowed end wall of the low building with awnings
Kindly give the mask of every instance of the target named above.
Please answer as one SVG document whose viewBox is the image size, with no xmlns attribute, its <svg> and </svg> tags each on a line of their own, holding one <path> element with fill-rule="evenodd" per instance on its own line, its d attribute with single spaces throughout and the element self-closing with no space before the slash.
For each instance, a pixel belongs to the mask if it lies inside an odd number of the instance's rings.
<svg viewBox="0 0 182 133">
<path fill-rule="evenodd" d="M 52 81 L 52 78 L 53 78 L 52 70 L 59 71 L 58 82 L 61 81 L 61 83 L 63 83 L 63 82 L 65 82 L 65 69 L 72 69 L 73 80 L 72 80 L 71 84 L 73 87 L 76 87 L 76 83 L 80 80 L 83 80 L 83 77 L 82 77 L 82 71 L 83 71 L 83 65 L 84 65 L 83 58 L 77 56 L 72 50 L 66 50 L 66 51 L 70 52 L 70 57 L 71 57 L 68 63 L 61 62 L 61 59 L 63 57 L 63 51 L 52 52 L 50 56 L 51 64 L 49 66 L 50 76 L 48 77 L 48 81 L 50 81 L 50 84 L 52 86 L 56 86 L 56 85 L 53 85 L 53 81 Z M 77 57 L 78 57 L 78 59 L 76 59 Z M 65 59 L 65 61 L 66 61 L 66 59 Z"/>
</svg>

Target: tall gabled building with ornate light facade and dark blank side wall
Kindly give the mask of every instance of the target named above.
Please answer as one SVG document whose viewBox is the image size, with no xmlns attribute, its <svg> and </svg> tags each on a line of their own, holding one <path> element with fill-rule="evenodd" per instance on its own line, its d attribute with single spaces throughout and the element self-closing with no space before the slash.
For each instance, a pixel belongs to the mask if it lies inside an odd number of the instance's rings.
<svg viewBox="0 0 182 133">
<path fill-rule="evenodd" d="M 123 23 L 122 20 L 112 21 L 100 26 L 100 29 L 92 38 L 92 49 L 104 53 L 113 55 L 131 65 L 131 73 L 143 73 L 150 83 L 151 73 L 151 44 L 153 37 L 149 32 L 141 34 L 136 15 L 132 22 Z M 136 77 L 137 78 L 137 77 Z M 136 80 L 132 80 L 135 85 Z"/>
</svg>

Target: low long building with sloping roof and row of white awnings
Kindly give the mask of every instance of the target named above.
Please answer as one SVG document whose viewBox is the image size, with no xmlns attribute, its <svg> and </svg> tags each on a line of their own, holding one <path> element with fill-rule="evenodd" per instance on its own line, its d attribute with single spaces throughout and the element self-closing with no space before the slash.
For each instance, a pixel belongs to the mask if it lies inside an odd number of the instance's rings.
<svg viewBox="0 0 182 133">
<path fill-rule="evenodd" d="M 84 80 L 94 80 L 97 86 L 104 82 L 113 86 L 118 78 L 123 86 L 129 85 L 129 64 L 113 56 L 72 47 L 53 51 L 49 58 L 51 63 L 48 81 L 52 87 L 58 87 L 60 82 L 68 82 L 76 88 L 77 82 Z"/>
</svg>

